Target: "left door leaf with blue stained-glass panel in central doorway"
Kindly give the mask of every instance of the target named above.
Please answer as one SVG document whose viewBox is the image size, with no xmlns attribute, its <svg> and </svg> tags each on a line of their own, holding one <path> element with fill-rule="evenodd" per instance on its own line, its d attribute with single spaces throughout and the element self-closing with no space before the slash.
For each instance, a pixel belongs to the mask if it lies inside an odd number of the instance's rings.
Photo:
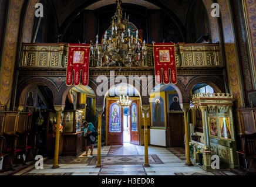
<svg viewBox="0 0 256 187">
<path fill-rule="evenodd" d="M 107 146 L 123 146 L 123 108 L 117 100 L 107 101 Z"/>
</svg>

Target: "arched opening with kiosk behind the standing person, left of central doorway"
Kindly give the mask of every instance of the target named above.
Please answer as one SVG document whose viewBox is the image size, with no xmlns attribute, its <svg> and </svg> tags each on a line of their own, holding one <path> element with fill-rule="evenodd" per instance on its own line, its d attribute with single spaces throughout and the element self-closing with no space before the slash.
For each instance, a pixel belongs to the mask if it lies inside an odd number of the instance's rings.
<svg viewBox="0 0 256 187">
<path fill-rule="evenodd" d="M 63 156 L 76 157 L 86 150 L 83 122 L 92 123 L 97 129 L 96 96 L 89 86 L 68 89 L 63 111 Z"/>
</svg>

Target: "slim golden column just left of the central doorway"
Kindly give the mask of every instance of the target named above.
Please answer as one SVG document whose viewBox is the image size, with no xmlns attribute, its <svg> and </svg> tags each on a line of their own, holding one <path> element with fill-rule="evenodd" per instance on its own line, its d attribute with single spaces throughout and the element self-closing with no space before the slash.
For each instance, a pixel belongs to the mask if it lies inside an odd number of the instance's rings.
<svg viewBox="0 0 256 187">
<path fill-rule="evenodd" d="M 101 160 L 101 148 L 102 148 L 102 113 L 103 113 L 103 106 L 96 106 L 96 112 L 98 116 L 98 144 L 97 144 L 97 165 L 96 167 L 102 167 L 102 160 Z"/>
</svg>

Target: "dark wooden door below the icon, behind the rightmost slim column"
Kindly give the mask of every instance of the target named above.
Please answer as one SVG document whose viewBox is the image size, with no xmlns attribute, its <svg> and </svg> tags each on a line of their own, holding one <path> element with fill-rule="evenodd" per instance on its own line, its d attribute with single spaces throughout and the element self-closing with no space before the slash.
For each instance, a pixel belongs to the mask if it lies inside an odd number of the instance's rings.
<svg viewBox="0 0 256 187">
<path fill-rule="evenodd" d="M 183 113 L 169 113 L 170 146 L 184 147 L 184 117 Z"/>
</svg>

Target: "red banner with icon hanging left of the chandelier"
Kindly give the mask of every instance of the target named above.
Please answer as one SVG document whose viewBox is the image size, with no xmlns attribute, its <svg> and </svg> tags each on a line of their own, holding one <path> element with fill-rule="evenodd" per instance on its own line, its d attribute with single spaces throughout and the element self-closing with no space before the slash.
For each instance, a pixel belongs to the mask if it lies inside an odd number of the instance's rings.
<svg viewBox="0 0 256 187">
<path fill-rule="evenodd" d="M 68 67 L 66 72 L 66 85 L 88 85 L 89 81 L 90 44 L 69 44 Z M 73 81 L 74 80 L 74 81 Z"/>
</svg>

